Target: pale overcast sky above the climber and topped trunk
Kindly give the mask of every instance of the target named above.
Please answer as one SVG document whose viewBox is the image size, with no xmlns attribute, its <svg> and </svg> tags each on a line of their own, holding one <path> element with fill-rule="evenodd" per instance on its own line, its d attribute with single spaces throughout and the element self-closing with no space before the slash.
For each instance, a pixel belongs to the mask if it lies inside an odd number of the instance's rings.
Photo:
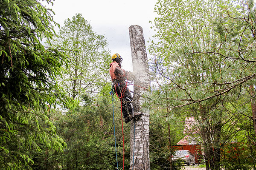
<svg viewBox="0 0 256 170">
<path fill-rule="evenodd" d="M 157 17 L 154 13 L 156 3 L 157 0 L 55 0 L 50 8 L 55 12 L 55 22 L 61 26 L 67 18 L 81 13 L 93 31 L 108 40 L 111 55 L 119 53 L 122 56 L 122 68 L 132 71 L 128 28 L 141 26 L 147 46 L 149 37 L 154 34 L 149 21 Z M 148 51 L 147 55 L 150 58 Z"/>
</svg>

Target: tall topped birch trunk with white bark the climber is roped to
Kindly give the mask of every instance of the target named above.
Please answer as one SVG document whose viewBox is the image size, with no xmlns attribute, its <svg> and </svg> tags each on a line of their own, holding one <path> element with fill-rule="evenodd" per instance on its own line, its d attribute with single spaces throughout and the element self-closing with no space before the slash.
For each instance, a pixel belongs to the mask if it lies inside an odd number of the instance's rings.
<svg viewBox="0 0 256 170">
<path fill-rule="evenodd" d="M 142 28 L 136 25 L 130 26 L 129 34 L 133 74 L 135 76 L 133 99 L 134 112 L 143 113 L 139 120 L 131 122 L 130 170 L 150 170 L 149 111 L 147 109 L 141 109 L 141 104 L 143 103 L 143 97 L 141 97 L 141 95 L 147 91 L 145 88 L 150 86 L 148 58 Z"/>
</svg>

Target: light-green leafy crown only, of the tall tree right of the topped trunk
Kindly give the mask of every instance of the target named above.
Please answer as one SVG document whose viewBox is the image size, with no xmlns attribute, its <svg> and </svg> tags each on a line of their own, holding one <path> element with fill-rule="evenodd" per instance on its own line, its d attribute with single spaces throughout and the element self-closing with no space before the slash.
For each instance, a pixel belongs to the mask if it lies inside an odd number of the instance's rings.
<svg viewBox="0 0 256 170">
<path fill-rule="evenodd" d="M 177 100 L 189 104 L 228 93 L 250 75 L 254 42 L 247 20 L 228 17 L 242 17 L 232 2 L 160 0 L 155 10 L 160 17 L 154 20 L 159 41 L 149 50 L 156 55 L 153 69 L 182 91 Z"/>
</svg>

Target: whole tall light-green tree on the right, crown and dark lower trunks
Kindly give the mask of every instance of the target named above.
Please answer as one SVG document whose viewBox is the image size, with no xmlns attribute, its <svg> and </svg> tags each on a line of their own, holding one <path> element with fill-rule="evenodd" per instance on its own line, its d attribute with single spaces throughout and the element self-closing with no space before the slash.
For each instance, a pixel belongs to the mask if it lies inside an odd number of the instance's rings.
<svg viewBox="0 0 256 170">
<path fill-rule="evenodd" d="M 201 120 L 207 169 L 220 168 L 220 144 L 227 140 L 218 137 L 227 132 L 224 126 L 231 119 L 222 121 L 234 109 L 228 106 L 246 93 L 246 83 L 255 81 L 254 9 L 250 0 L 159 0 L 155 8 L 160 17 L 154 20 L 158 41 L 151 42 L 152 68 L 165 79 L 161 90 L 171 92 L 166 97 L 156 90 L 153 98 L 170 111 L 191 105 L 188 110 Z M 212 154 L 212 148 L 218 152 Z"/>
</svg>

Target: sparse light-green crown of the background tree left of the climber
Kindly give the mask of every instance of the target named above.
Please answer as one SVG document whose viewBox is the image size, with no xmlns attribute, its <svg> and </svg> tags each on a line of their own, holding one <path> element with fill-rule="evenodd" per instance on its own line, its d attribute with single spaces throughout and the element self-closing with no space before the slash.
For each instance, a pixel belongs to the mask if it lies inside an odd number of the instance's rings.
<svg viewBox="0 0 256 170">
<path fill-rule="evenodd" d="M 104 36 L 93 32 L 90 23 L 81 14 L 64 21 L 53 41 L 69 54 L 68 68 L 62 72 L 61 84 L 73 99 L 81 100 L 82 94 L 99 92 L 109 80 L 110 54 Z"/>
</svg>

